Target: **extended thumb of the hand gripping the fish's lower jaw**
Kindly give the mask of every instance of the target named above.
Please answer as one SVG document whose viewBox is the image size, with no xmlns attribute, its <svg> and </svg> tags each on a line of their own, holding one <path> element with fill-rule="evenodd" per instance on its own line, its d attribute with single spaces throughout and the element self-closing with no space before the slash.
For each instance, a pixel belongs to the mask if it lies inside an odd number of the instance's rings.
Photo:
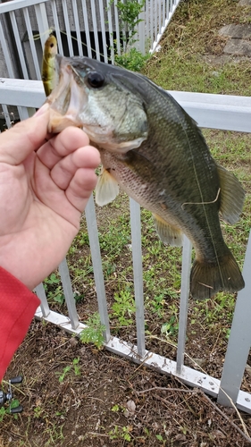
<svg viewBox="0 0 251 447">
<path fill-rule="evenodd" d="M 0 135 L 0 162 L 21 164 L 29 154 L 38 149 L 47 138 L 49 106 L 46 104 L 40 114 L 18 122 L 12 129 Z"/>
</svg>

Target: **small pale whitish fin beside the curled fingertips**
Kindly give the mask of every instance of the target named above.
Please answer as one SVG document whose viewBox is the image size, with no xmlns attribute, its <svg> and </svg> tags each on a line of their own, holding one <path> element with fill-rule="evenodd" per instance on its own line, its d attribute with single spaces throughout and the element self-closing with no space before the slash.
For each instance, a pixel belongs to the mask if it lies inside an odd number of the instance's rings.
<svg viewBox="0 0 251 447">
<path fill-rule="evenodd" d="M 117 197 L 120 189 L 117 181 L 108 173 L 106 169 L 102 169 L 96 184 L 96 204 L 104 207 Z"/>
</svg>

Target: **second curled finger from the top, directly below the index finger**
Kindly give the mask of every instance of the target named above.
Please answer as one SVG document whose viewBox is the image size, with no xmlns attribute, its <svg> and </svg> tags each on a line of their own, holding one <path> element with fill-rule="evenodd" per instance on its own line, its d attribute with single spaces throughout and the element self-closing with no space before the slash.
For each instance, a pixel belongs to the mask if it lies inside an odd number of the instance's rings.
<svg viewBox="0 0 251 447">
<path fill-rule="evenodd" d="M 96 169 L 98 164 L 100 164 L 98 150 L 92 146 L 85 146 L 63 157 L 55 164 L 51 171 L 51 178 L 61 190 L 66 190 L 79 168 Z"/>
</svg>

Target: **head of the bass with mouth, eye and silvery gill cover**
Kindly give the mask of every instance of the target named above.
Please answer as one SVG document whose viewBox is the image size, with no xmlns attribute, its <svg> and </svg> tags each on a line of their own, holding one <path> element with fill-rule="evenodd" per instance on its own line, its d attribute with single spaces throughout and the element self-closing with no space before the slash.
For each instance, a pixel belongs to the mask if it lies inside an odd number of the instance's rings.
<svg viewBox="0 0 251 447">
<path fill-rule="evenodd" d="M 88 57 L 61 55 L 55 56 L 55 72 L 55 88 L 47 98 L 48 131 L 77 126 L 99 148 L 121 153 L 147 138 L 146 107 L 127 79 L 130 72 Z"/>
</svg>

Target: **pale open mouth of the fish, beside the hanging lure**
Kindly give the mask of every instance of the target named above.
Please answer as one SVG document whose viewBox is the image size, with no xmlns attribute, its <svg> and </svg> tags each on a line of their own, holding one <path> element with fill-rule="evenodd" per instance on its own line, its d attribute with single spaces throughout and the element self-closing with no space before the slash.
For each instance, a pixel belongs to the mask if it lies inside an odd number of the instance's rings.
<svg viewBox="0 0 251 447">
<path fill-rule="evenodd" d="M 66 58 L 56 55 L 55 77 L 56 86 L 46 99 L 50 105 L 48 131 L 59 133 L 70 125 L 82 127 L 79 111 L 88 104 L 88 95 L 78 72 Z"/>
</svg>

